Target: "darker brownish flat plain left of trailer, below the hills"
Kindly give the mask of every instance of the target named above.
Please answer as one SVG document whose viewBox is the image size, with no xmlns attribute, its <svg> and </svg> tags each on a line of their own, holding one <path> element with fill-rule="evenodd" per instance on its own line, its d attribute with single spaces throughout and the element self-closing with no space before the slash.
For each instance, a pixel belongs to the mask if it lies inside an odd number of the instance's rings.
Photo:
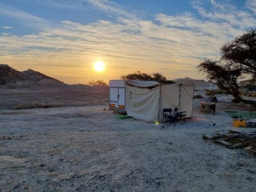
<svg viewBox="0 0 256 192">
<path fill-rule="evenodd" d="M 92 106 L 108 102 L 109 87 L 42 84 L 20 89 L 0 88 L 0 110 Z"/>
</svg>

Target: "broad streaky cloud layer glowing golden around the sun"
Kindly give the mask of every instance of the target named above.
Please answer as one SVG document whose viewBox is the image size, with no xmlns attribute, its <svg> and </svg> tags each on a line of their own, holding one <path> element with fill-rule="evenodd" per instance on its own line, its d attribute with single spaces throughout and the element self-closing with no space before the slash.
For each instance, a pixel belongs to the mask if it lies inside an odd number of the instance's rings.
<svg viewBox="0 0 256 192">
<path fill-rule="evenodd" d="M 58 27 L 51 26 L 40 33 L 0 36 L 0 58 L 7 61 L 16 58 L 23 63 L 37 60 L 45 63 L 47 69 L 55 69 L 58 74 L 55 76 L 59 76 L 60 69 L 72 68 L 71 71 L 76 71 L 74 76 L 87 81 L 97 78 L 90 66 L 98 58 L 108 63 L 109 72 L 105 79 L 102 77 L 104 80 L 110 75 L 119 78 L 137 70 L 160 72 L 168 78 L 181 75 L 199 78 L 195 67 L 200 59 L 218 57 L 224 42 L 256 25 L 250 10 L 239 11 L 233 5 L 216 1 L 209 2 L 210 9 L 203 7 L 202 2 L 193 3 L 200 17 L 192 13 L 160 13 L 154 20 L 140 19 L 109 1 L 87 2 L 111 12 L 116 19 L 90 24 L 63 20 Z M 41 21 L 33 15 L 27 18 Z M 43 19 L 42 24 L 45 23 Z"/>
</svg>

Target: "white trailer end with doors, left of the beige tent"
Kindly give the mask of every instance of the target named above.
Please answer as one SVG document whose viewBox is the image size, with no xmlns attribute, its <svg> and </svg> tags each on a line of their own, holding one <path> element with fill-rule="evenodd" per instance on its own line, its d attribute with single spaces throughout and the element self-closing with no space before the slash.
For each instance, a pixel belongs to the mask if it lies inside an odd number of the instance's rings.
<svg viewBox="0 0 256 192">
<path fill-rule="evenodd" d="M 125 80 L 110 80 L 110 109 L 125 111 Z"/>
</svg>

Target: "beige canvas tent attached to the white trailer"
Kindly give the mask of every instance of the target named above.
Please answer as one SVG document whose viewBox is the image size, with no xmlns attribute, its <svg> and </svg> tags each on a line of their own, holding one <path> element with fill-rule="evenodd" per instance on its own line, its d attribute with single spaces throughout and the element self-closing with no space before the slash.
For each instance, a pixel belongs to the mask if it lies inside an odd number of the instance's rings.
<svg viewBox="0 0 256 192">
<path fill-rule="evenodd" d="M 192 117 L 194 85 L 161 84 L 157 81 L 125 81 L 127 115 L 148 122 L 161 122 L 164 108 L 186 111 Z"/>
</svg>

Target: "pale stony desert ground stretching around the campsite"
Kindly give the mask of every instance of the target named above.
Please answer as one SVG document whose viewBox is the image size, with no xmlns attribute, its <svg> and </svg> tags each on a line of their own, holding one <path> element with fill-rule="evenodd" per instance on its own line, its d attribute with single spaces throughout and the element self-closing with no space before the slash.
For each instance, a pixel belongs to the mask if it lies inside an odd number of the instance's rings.
<svg viewBox="0 0 256 192">
<path fill-rule="evenodd" d="M 106 90 L 86 93 L 0 91 L 1 191 L 255 191 L 255 155 L 202 139 L 236 130 L 224 110 L 248 105 L 225 96 L 212 126 L 194 104 L 204 120 L 161 129 L 116 118 Z"/>
</svg>

